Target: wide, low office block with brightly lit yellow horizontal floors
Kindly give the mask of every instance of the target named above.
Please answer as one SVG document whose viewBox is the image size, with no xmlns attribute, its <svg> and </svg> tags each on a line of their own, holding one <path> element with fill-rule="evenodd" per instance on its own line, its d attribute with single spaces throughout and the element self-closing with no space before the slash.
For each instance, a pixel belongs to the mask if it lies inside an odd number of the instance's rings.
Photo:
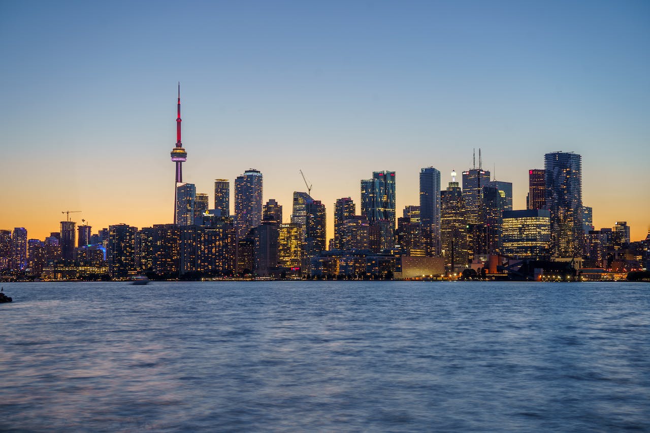
<svg viewBox="0 0 650 433">
<path fill-rule="evenodd" d="M 504 211 L 501 252 L 517 258 L 549 259 L 551 213 L 546 209 Z"/>
</svg>

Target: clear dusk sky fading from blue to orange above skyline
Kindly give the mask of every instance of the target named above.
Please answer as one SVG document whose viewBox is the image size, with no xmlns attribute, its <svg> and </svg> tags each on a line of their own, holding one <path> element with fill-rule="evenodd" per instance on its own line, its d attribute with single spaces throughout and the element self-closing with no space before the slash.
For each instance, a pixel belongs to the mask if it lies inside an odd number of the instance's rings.
<svg viewBox="0 0 650 433">
<path fill-rule="evenodd" d="M 0 229 L 173 220 L 177 83 L 183 180 L 248 168 L 291 216 L 293 191 L 357 204 L 396 172 L 473 166 L 513 183 L 582 155 L 596 229 L 650 230 L 647 1 L 0 1 Z M 231 198 L 231 206 L 232 206 Z"/>
</svg>

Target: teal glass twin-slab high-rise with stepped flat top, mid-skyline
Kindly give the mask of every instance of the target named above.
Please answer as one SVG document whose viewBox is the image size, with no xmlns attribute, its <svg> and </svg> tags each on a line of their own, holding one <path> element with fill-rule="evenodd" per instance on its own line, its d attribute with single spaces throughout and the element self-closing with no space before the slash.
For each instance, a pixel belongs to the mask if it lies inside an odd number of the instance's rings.
<svg viewBox="0 0 650 433">
<path fill-rule="evenodd" d="M 372 179 L 361 181 L 361 215 L 371 225 L 389 221 L 395 231 L 395 172 L 372 172 Z"/>
</svg>

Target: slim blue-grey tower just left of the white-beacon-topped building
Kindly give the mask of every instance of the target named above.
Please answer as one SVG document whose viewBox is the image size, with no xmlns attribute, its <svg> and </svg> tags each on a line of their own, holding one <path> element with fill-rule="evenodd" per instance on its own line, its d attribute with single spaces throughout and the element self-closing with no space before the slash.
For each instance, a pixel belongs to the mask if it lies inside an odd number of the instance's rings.
<svg viewBox="0 0 650 433">
<path fill-rule="evenodd" d="M 440 172 L 420 170 L 420 226 L 427 256 L 440 254 Z"/>
</svg>

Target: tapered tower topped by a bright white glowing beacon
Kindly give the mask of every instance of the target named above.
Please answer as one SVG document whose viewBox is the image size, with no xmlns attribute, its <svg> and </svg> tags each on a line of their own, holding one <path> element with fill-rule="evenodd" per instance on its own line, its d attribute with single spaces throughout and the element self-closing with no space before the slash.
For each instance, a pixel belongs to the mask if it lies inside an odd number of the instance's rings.
<svg viewBox="0 0 650 433">
<path fill-rule="evenodd" d="M 460 185 L 456 181 L 456 172 L 451 173 L 452 181 L 447 189 L 440 192 L 441 253 L 445 267 L 452 272 L 461 272 L 467 267 L 467 217 L 465 199 Z"/>
</svg>

